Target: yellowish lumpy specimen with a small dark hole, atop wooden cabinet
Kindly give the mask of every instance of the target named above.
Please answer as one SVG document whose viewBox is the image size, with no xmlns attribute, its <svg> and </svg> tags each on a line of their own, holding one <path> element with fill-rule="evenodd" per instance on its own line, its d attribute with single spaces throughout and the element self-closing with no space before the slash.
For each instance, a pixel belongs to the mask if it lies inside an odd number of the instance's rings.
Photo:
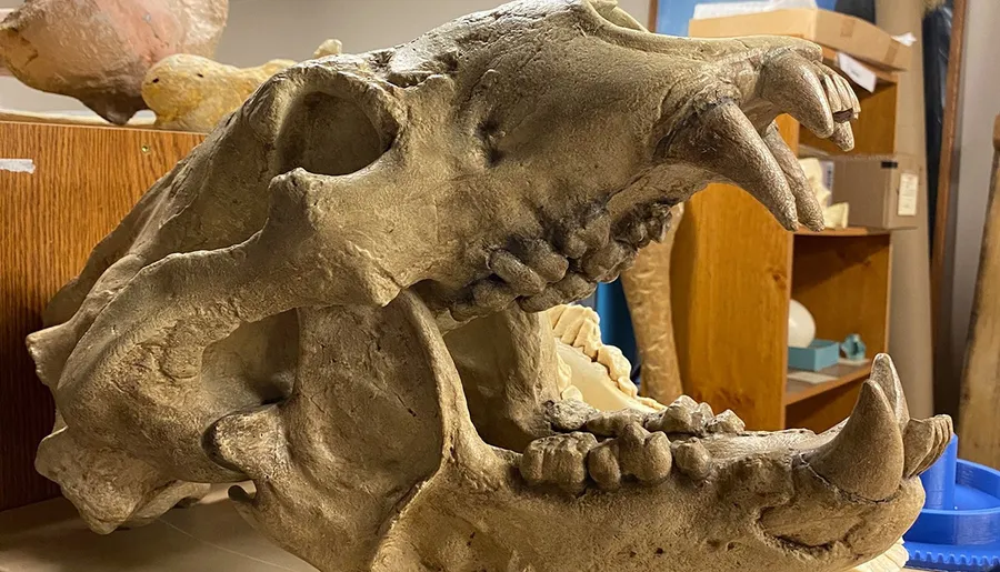
<svg viewBox="0 0 1000 572">
<path fill-rule="evenodd" d="M 157 127 L 207 133 L 268 78 L 294 63 L 271 60 L 241 69 L 178 53 L 149 69 L 142 82 L 142 99 L 156 112 Z"/>
</svg>

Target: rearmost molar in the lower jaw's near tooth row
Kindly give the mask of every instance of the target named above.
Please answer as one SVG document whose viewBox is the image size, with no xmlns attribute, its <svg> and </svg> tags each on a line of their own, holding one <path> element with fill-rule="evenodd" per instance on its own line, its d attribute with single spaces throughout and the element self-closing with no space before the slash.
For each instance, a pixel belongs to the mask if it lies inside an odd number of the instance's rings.
<svg viewBox="0 0 1000 572">
<path fill-rule="evenodd" d="M 597 446 L 590 433 L 536 439 L 521 455 L 521 475 L 532 485 L 554 484 L 577 493 L 587 480 L 587 453 Z"/>
</svg>

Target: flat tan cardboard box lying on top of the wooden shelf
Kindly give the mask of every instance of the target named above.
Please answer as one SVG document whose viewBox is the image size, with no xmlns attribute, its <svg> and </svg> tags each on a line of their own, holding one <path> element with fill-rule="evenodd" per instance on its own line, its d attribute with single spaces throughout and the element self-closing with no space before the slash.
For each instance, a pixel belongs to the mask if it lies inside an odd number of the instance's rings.
<svg viewBox="0 0 1000 572">
<path fill-rule="evenodd" d="M 913 51 L 860 18 L 809 8 L 691 20 L 688 34 L 697 38 L 793 36 L 893 70 L 909 68 Z"/>
</svg>

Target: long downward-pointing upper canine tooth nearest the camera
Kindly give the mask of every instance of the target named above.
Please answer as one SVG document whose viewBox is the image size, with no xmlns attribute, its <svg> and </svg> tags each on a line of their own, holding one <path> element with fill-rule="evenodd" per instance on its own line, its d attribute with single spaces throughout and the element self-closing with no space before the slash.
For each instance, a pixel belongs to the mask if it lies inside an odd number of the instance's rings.
<svg viewBox="0 0 1000 572">
<path fill-rule="evenodd" d="M 668 157 L 729 179 L 760 201 L 786 229 L 796 230 L 796 200 L 784 173 L 736 103 L 720 103 L 698 117 L 678 133 Z"/>
</svg>

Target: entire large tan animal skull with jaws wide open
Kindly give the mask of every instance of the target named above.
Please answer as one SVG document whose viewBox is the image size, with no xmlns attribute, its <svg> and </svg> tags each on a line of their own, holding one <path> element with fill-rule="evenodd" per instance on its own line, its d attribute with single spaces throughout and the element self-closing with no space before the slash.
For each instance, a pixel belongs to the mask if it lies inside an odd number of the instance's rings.
<svg viewBox="0 0 1000 572">
<path fill-rule="evenodd" d="M 98 532 L 251 479 L 241 513 L 324 571 L 870 561 L 951 434 L 909 419 L 888 357 L 844 424 L 748 432 L 689 398 L 573 399 L 578 367 L 622 394 L 626 367 L 589 320 L 542 312 L 712 181 L 819 228 L 772 123 L 851 144 L 820 58 L 538 0 L 292 66 L 50 303 L 28 341 L 59 412 L 38 469 Z"/>
</svg>

